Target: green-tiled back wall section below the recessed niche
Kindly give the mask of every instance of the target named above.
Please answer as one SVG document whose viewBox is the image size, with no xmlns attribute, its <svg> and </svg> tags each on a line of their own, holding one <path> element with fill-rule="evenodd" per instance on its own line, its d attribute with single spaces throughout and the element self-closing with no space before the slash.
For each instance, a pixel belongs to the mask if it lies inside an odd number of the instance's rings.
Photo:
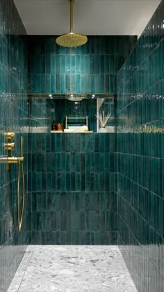
<svg viewBox="0 0 164 292">
<path fill-rule="evenodd" d="M 116 244 L 115 133 L 30 133 L 28 243 Z"/>
</svg>

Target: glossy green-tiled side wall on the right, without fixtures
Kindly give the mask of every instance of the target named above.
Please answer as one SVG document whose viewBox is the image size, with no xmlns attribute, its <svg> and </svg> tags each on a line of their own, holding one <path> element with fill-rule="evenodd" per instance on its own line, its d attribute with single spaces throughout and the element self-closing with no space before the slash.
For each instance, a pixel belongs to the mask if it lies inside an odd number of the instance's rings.
<svg viewBox="0 0 164 292">
<path fill-rule="evenodd" d="M 118 243 L 138 291 L 162 292 L 164 1 L 118 73 Z"/>
</svg>

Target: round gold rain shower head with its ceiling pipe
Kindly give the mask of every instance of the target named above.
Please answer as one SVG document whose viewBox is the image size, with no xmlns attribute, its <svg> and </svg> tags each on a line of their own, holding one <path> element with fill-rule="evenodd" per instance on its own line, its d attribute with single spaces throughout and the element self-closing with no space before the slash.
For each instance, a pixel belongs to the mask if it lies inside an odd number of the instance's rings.
<svg viewBox="0 0 164 292">
<path fill-rule="evenodd" d="M 86 35 L 81 33 L 73 33 L 73 0 L 70 1 L 70 33 L 60 35 L 56 38 L 56 44 L 63 47 L 79 47 L 88 41 Z"/>
</svg>

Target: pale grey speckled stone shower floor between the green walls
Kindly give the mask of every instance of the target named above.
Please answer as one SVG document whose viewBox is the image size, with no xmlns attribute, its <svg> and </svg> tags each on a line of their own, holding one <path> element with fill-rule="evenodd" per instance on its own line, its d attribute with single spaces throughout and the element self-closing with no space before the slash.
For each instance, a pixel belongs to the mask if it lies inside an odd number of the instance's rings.
<svg viewBox="0 0 164 292">
<path fill-rule="evenodd" d="M 8 292 L 136 292 L 112 245 L 28 245 Z"/>
</svg>

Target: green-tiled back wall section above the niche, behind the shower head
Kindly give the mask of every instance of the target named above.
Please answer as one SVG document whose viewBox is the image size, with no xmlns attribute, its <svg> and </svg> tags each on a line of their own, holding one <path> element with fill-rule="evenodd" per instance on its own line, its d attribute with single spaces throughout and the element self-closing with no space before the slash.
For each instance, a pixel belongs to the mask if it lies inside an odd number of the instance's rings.
<svg viewBox="0 0 164 292">
<path fill-rule="evenodd" d="M 88 36 L 81 47 L 65 48 L 55 36 L 31 36 L 29 88 L 33 94 L 116 94 L 117 72 L 136 37 Z"/>
</svg>

